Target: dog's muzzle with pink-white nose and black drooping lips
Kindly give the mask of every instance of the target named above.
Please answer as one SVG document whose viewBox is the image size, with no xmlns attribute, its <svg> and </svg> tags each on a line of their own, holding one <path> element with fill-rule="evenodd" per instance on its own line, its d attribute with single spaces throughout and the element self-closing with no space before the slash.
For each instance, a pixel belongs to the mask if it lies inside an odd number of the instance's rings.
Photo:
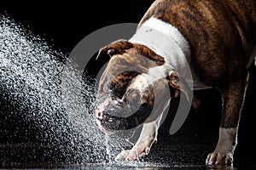
<svg viewBox="0 0 256 170">
<path fill-rule="evenodd" d="M 128 130 L 143 124 L 154 105 L 154 96 L 150 98 L 146 94 L 151 93 L 129 90 L 123 99 L 105 99 L 96 109 L 97 124 L 107 132 Z"/>
</svg>

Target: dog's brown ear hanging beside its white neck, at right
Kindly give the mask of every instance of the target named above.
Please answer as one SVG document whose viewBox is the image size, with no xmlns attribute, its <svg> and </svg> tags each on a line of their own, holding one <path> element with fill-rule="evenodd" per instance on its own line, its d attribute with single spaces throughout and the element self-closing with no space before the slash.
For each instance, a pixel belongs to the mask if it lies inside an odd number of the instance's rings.
<svg viewBox="0 0 256 170">
<path fill-rule="evenodd" d="M 179 77 L 176 71 L 172 71 L 169 75 L 169 85 L 172 88 L 175 88 L 177 91 L 175 91 L 174 97 L 177 97 L 180 93 L 185 94 L 186 98 L 191 101 L 191 89 L 189 88 L 189 85 L 187 82 L 183 79 L 183 77 Z"/>
</svg>

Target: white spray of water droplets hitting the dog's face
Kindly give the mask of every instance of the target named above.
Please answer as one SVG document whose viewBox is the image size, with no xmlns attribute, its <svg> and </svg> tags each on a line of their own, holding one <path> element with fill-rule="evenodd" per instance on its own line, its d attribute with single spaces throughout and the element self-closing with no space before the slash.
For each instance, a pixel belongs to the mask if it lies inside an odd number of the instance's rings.
<svg viewBox="0 0 256 170">
<path fill-rule="evenodd" d="M 92 114 L 91 79 L 82 79 L 73 61 L 40 37 L 5 16 L 0 20 L 0 89 L 12 105 L 2 114 L 22 117 L 36 129 L 37 142 L 53 146 L 65 163 L 110 161 L 125 141 L 110 137 L 106 152 Z"/>
</svg>

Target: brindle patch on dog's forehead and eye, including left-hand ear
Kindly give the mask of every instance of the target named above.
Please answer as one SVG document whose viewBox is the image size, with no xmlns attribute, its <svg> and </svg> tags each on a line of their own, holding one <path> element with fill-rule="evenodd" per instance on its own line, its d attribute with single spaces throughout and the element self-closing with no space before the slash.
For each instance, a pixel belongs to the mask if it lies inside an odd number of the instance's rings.
<svg viewBox="0 0 256 170">
<path fill-rule="evenodd" d="M 114 99 L 122 98 L 126 88 L 138 74 L 147 73 L 149 68 L 165 64 L 165 59 L 150 48 L 126 40 L 119 40 L 102 48 L 98 58 L 105 54 L 110 55 L 111 59 L 102 75 L 99 92 L 111 92 Z M 119 74 L 113 76 L 116 73 Z"/>
</svg>

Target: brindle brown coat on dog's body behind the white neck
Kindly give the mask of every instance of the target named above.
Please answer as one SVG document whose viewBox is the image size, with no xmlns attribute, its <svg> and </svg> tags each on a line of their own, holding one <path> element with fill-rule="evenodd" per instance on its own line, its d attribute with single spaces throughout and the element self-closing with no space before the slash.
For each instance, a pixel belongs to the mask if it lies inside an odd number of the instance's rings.
<svg viewBox="0 0 256 170">
<path fill-rule="evenodd" d="M 239 77 L 256 42 L 256 1 L 157 0 L 139 26 L 152 16 L 181 31 L 189 42 L 195 73 L 208 86 L 222 88 L 225 80 Z"/>
</svg>

